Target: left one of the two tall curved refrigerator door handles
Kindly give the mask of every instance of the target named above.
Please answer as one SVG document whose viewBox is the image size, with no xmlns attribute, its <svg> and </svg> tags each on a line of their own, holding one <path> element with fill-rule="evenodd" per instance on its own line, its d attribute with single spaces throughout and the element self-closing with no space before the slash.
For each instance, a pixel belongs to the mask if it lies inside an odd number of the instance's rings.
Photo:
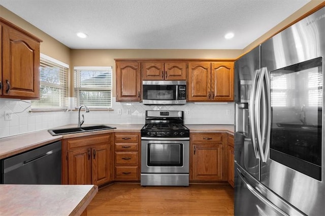
<svg viewBox="0 0 325 216">
<path fill-rule="evenodd" d="M 256 135 L 255 135 L 255 114 L 254 114 L 254 101 L 255 101 L 255 93 L 256 93 L 256 83 L 259 75 L 259 70 L 255 70 L 255 77 L 252 85 L 252 90 L 250 93 L 250 99 L 249 99 L 249 123 L 250 123 L 250 130 L 251 130 L 251 135 L 252 135 L 252 144 L 253 144 L 253 149 L 255 153 L 255 158 L 259 158 L 258 155 L 258 150 L 256 146 Z"/>
</svg>

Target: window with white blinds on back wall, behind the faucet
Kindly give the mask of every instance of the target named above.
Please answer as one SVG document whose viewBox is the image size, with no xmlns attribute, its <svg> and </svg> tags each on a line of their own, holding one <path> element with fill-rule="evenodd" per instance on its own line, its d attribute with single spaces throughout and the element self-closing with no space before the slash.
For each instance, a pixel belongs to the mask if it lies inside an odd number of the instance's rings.
<svg viewBox="0 0 325 216">
<path fill-rule="evenodd" d="M 75 105 L 112 107 L 112 67 L 74 67 Z"/>
</svg>

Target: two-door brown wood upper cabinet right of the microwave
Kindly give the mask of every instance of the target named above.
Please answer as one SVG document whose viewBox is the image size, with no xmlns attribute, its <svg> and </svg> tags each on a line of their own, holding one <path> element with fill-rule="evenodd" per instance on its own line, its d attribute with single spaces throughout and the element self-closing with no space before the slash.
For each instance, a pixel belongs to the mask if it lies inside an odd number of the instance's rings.
<svg viewBox="0 0 325 216">
<path fill-rule="evenodd" d="M 234 62 L 189 62 L 187 101 L 233 101 Z"/>
</svg>

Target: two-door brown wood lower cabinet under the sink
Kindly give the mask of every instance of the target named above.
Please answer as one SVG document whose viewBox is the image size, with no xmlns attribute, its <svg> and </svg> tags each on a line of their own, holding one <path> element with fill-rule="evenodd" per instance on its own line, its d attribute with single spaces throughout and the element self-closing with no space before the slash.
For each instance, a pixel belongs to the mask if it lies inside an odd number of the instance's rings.
<svg viewBox="0 0 325 216">
<path fill-rule="evenodd" d="M 63 139 L 63 184 L 103 185 L 111 182 L 112 135 L 107 133 Z"/>
</svg>

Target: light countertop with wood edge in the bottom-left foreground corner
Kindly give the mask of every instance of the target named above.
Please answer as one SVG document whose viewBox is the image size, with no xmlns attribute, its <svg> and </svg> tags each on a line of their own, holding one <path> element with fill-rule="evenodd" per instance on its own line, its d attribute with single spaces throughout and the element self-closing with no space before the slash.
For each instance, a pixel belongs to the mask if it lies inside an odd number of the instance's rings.
<svg viewBox="0 0 325 216">
<path fill-rule="evenodd" d="M 94 185 L 0 185 L 0 215 L 80 215 Z"/>
</svg>

